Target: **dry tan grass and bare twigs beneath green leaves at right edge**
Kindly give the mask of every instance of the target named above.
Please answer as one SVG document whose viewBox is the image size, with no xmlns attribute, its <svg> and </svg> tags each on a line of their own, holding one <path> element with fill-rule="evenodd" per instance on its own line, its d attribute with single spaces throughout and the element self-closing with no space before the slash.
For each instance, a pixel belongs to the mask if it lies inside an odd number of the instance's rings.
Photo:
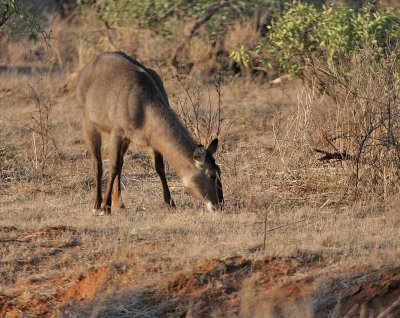
<svg viewBox="0 0 400 318">
<path fill-rule="evenodd" d="M 321 68 L 330 103 L 308 106 L 310 128 L 319 134 L 308 139 L 311 147 L 322 150 L 321 160 L 340 161 L 356 198 L 386 198 L 399 189 L 399 54 L 395 47 L 377 60 L 367 47 L 333 71 Z"/>
</svg>

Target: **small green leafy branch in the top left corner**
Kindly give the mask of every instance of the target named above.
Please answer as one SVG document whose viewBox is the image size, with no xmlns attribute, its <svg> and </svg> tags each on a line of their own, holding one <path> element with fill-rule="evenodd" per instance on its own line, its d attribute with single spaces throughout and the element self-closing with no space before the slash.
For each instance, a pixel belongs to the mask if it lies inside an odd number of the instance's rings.
<svg viewBox="0 0 400 318">
<path fill-rule="evenodd" d="M 37 16 L 17 0 L 0 0 L 0 34 L 15 37 L 18 33 L 28 35 L 31 41 L 37 41 L 41 35 L 46 41 L 46 33 Z"/>
</svg>

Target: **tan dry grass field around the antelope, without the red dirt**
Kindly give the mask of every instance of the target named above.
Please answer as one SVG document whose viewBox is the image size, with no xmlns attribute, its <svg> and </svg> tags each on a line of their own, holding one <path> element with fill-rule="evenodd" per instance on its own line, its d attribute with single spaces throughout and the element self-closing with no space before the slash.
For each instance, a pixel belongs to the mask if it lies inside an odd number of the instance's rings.
<svg viewBox="0 0 400 318">
<path fill-rule="evenodd" d="M 91 31 L 93 36 L 81 39 L 78 45 L 82 63 L 109 48 L 104 30 Z M 126 34 L 132 30 L 118 32 L 124 36 L 116 48 L 129 43 L 127 48 L 143 52 L 138 53 L 143 56 L 152 52 L 155 60 L 165 53 L 163 49 L 156 51 L 157 39 L 142 45 L 146 33 L 130 38 Z M 105 46 L 97 42 L 100 35 Z M 115 36 L 113 40 L 117 41 Z M 134 43 L 140 46 L 133 47 Z M 361 64 L 357 59 L 349 63 Z M 310 272 L 289 275 L 280 283 L 314 274 L 331 278 L 352 267 L 398 265 L 400 219 L 392 170 L 396 153 L 391 148 L 393 142 L 390 144 L 393 139 L 385 138 L 390 136 L 387 128 L 397 132 L 397 126 L 387 125 L 389 119 L 380 107 L 381 103 L 391 106 L 397 96 L 395 90 L 391 92 L 396 94 L 385 91 L 394 88 L 386 82 L 390 65 L 374 68 L 377 65 L 371 62 L 369 73 L 352 69 L 352 85 L 360 86 L 361 96 L 367 94 L 368 100 L 379 103 L 365 103 L 365 98 L 349 94 L 339 103 L 297 81 L 272 87 L 248 78 L 225 77 L 215 85 L 209 78 L 201 81 L 192 75 L 181 75 L 177 80 L 155 61 L 149 66 L 162 70 L 172 107 L 191 126 L 199 142 L 220 136 L 217 162 L 222 169 L 225 210 L 204 211 L 203 205 L 186 193 L 173 167 L 167 167 L 167 178 L 178 208 L 166 209 L 149 160 L 131 148 L 122 176 L 127 209 L 116 210 L 107 218 L 93 217 L 92 167 L 79 112 L 71 103 L 70 74 L 42 75 L 42 80 L 0 78 L 2 293 L 36 282 L 22 295 L 48 295 L 52 299 L 58 292 L 54 280 L 79 280 L 102 266 L 129 277 L 136 288 L 155 286 L 176 272 L 190 271 L 205 259 L 234 256 L 320 259 L 324 264 Z M 68 84 L 66 88 L 64 84 Z M 377 117 L 363 117 L 365 114 Z M 355 162 L 319 161 L 313 148 L 346 150 L 354 155 L 359 137 L 375 120 L 380 127 L 363 145 L 367 164 L 364 159 L 359 161 L 357 191 L 363 195 L 350 200 L 347 194 L 356 189 Z M 352 134 L 327 141 L 331 138 L 327 136 L 342 132 L 343 127 Z M 329 148 L 334 142 L 335 147 Z M 370 187 L 377 196 L 371 195 Z M 46 228 L 59 230 L 49 234 Z M 262 295 L 258 295 L 261 299 L 256 296 L 254 303 L 246 303 L 243 297 L 244 315 L 269 306 Z M 325 304 L 325 298 L 320 296 L 319 303 Z M 290 316 L 291 309 L 287 311 Z M 309 315 L 307 306 L 300 311 Z"/>
</svg>

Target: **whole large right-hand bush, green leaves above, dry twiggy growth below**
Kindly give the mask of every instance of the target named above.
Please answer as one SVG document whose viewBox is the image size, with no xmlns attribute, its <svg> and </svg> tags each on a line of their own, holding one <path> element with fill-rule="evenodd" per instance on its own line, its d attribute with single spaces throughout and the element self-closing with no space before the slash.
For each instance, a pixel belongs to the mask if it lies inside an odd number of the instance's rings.
<svg viewBox="0 0 400 318">
<path fill-rule="evenodd" d="M 323 104 L 307 99 L 308 149 L 342 163 L 344 188 L 356 198 L 388 197 L 400 189 L 399 40 L 392 11 L 294 1 L 256 47 L 239 45 L 231 57 L 244 68 L 299 75 L 327 93 Z"/>
</svg>

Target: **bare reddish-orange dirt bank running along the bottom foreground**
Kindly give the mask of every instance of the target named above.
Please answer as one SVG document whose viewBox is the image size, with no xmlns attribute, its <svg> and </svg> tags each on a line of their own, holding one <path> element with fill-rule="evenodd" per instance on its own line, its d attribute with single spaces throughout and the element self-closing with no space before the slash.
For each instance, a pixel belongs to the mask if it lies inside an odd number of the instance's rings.
<svg viewBox="0 0 400 318">
<path fill-rule="evenodd" d="M 68 239 L 65 236 L 74 233 L 65 227 L 3 230 L 14 233 L 11 236 L 18 242 L 59 243 L 60 237 Z M 70 247 L 59 250 L 68 253 Z M 260 312 L 287 316 L 290 310 L 296 310 L 298 317 L 400 316 L 400 268 L 343 269 L 322 283 L 329 264 L 312 253 L 264 260 L 205 260 L 191 271 L 161 273 L 157 280 L 151 268 L 122 270 L 121 266 L 102 265 L 69 277 L 18 280 L 7 294 L 0 293 L 0 316 L 235 317 Z"/>
</svg>

